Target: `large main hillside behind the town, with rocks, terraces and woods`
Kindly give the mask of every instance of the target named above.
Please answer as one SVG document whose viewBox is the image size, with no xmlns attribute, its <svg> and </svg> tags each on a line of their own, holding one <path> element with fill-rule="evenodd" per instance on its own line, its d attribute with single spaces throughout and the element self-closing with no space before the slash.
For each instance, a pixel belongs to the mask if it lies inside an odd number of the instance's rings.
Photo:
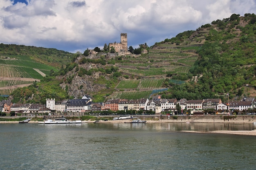
<svg viewBox="0 0 256 170">
<path fill-rule="evenodd" d="M 55 81 L 52 86 L 59 85 L 67 95 L 62 92 L 58 96 L 56 89 L 48 86 L 46 96 L 63 99 L 87 94 L 94 102 L 153 94 L 177 99 L 219 97 L 223 102 L 227 93 L 230 99 L 256 97 L 255 22 L 254 14 L 233 14 L 151 47 L 141 44 L 141 50 L 147 50 L 141 55 L 80 55 L 52 73 L 55 78 L 44 79 Z M 45 84 L 41 81 L 37 86 Z"/>
</svg>

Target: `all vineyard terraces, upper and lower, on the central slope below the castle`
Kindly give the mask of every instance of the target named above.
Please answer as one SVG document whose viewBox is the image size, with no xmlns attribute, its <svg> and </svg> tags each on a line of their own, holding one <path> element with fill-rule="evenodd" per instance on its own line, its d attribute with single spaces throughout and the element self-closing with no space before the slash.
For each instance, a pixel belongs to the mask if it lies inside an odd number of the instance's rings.
<svg viewBox="0 0 256 170">
<path fill-rule="evenodd" d="M 167 73 L 188 73 L 189 69 L 198 60 L 198 54 L 195 52 L 201 48 L 201 45 L 180 45 L 175 44 L 157 44 L 148 50 L 147 54 L 141 56 L 126 56 L 122 62 L 116 63 L 119 70 L 125 75 L 134 75 L 143 77 L 143 79 L 121 80 L 116 86 L 117 89 L 139 90 L 118 92 L 114 98 L 139 99 L 149 97 L 154 93 L 167 90 L 161 88 Z M 173 84 L 183 84 L 184 81 L 170 80 Z M 153 89 L 153 91 L 145 91 Z"/>
</svg>

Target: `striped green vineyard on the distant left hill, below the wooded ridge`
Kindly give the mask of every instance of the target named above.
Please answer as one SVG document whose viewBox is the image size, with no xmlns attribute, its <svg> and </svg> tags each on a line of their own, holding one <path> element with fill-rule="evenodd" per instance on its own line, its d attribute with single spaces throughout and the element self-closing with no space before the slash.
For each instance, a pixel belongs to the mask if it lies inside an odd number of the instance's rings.
<svg viewBox="0 0 256 170">
<path fill-rule="evenodd" d="M 56 70 L 51 66 L 34 62 L 27 56 L 2 58 L 0 59 L 0 95 L 8 96 L 18 87 L 40 81 L 44 74 L 49 75 L 52 69 Z"/>
</svg>

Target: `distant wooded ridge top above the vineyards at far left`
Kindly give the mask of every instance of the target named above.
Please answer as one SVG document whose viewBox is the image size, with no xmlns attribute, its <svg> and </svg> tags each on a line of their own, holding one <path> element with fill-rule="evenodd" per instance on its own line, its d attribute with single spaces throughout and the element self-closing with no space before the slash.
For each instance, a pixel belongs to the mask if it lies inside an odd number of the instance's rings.
<svg viewBox="0 0 256 170">
<path fill-rule="evenodd" d="M 31 60 L 41 64 L 47 64 L 56 68 L 61 68 L 61 65 L 66 65 L 72 62 L 75 54 L 62 50 L 43 48 L 36 46 L 25 46 L 16 44 L 0 44 L 1 57 L 15 57 L 23 55 L 30 57 Z"/>
</svg>

